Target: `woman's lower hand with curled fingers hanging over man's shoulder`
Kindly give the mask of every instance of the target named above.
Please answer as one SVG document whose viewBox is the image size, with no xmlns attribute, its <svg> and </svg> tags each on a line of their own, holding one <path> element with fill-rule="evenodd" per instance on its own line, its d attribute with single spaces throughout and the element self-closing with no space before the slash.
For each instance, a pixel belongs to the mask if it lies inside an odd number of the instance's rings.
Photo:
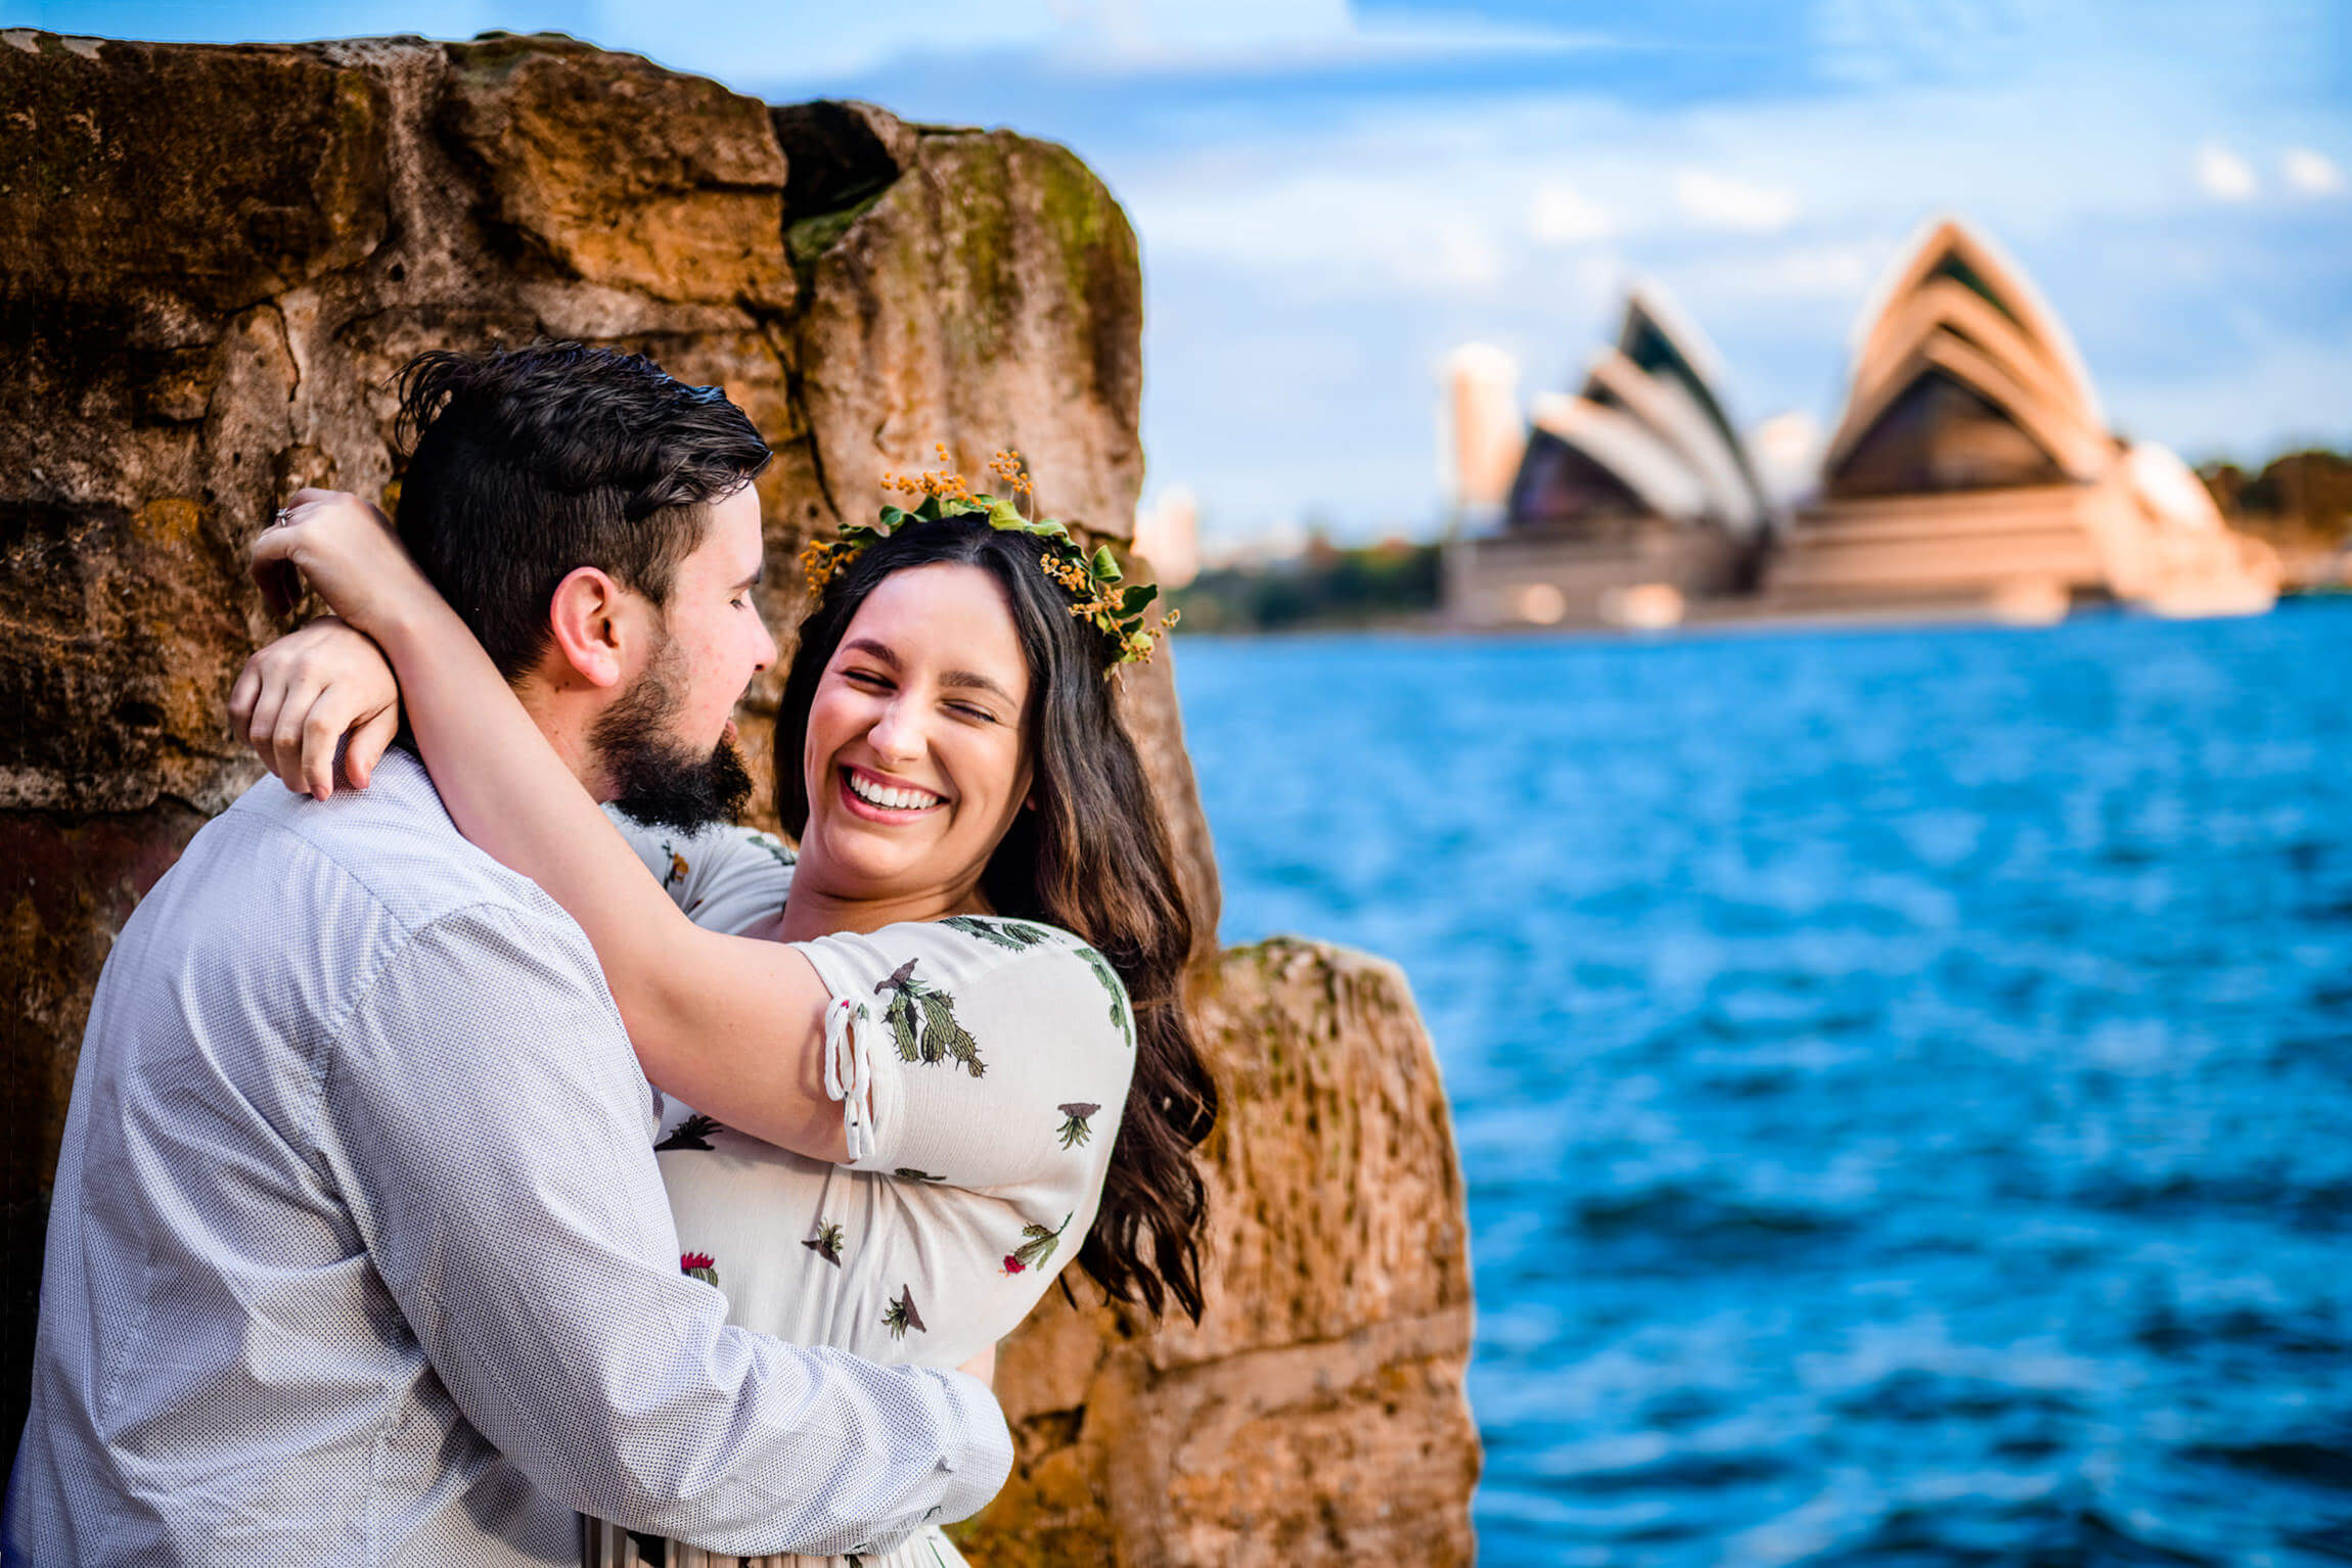
<svg viewBox="0 0 2352 1568">
<path fill-rule="evenodd" d="M 400 684 L 383 649 L 325 616 L 245 661 L 228 691 L 228 726 L 289 790 L 327 799 L 346 733 L 343 778 L 367 788 L 400 733 Z"/>
</svg>

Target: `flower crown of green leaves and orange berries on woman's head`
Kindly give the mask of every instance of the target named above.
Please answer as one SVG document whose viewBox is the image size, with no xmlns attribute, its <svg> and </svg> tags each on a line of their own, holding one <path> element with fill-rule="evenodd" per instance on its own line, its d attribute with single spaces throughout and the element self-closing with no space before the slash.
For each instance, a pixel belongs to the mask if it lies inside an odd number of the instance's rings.
<svg viewBox="0 0 2352 1568">
<path fill-rule="evenodd" d="M 1115 649 L 1108 672 L 1117 672 L 1120 665 L 1150 663 L 1157 639 L 1167 635 L 1167 628 L 1176 625 L 1181 611 L 1167 611 L 1160 625 L 1145 625 L 1143 611 L 1152 599 L 1160 597 L 1157 583 L 1134 583 L 1120 585 L 1120 562 L 1112 557 L 1110 545 L 1096 545 L 1094 555 L 1087 555 L 1070 529 L 1051 517 L 1028 517 L 1021 510 L 1021 496 L 1033 496 L 1028 473 L 1023 473 L 1018 451 L 1000 451 L 988 458 L 990 473 L 1004 482 L 1009 496 L 990 496 L 985 491 L 974 491 L 964 484 L 964 477 L 948 470 L 948 447 L 938 444 L 941 473 L 922 473 L 915 477 L 884 473 L 882 489 L 898 491 L 903 496 L 922 496 L 913 508 L 884 505 L 880 522 L 844 522 L 840 538 L 814 538 L 800 552 L 800 567 L 809 578 L 814 592 L 823 592 L 826 585 L 840 576 L 849 562 L 866 552 L 866 545 L 877 538 L 889 538 L 898 529 L 913 522 L 941 522 L 943 517 L 985 517 L 988 527 L 1004 534 L 1030 534 L 1044 541 L 1044 555 L 1040 564 L 1044 574 L 1054 578 L 1063 592 L 1070 595 L 1070 614 L 1080 621 L 1094 625 L 1103 632 Z"/>
</svg>

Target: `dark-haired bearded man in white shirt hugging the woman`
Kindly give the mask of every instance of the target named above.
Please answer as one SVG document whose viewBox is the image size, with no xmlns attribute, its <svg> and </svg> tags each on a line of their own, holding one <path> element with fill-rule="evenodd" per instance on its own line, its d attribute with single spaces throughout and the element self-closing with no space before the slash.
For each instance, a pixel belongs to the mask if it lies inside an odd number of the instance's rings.
<svg viewBox="0 0 2352 1568">
<path fill-rule="evenodd" d="M 402 416 L 402 538 L 581 783 L 680 827 L 739 802 L 776 656 L 741 409 L 557 343 L 426 355 Z M 574 1563 L 574 1512 L 873 1552 L 988 1502 L 985 1385 L 724 1324 L 652 1126 L 588 938 L 414 755 L 249 790 L 99 980 L 5 1559 Z"/>
</svg>

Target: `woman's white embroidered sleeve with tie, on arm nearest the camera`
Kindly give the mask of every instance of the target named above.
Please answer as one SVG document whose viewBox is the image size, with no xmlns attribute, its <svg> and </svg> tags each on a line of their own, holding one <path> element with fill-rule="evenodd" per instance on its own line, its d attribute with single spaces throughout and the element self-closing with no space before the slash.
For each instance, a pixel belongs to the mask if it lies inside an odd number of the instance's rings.
<svg viewBox="0 0 2352 1568">
<path fill-rule="evenodd" d="M 833 1086 L 870 1086 L 870 1147 L 851 1145 L 851 1168 L 993 1192 L 1084 1234 L 1136 1063 L 1103 954 L 993 914 L 795 947 L 833 994 Z"/>
</svg>

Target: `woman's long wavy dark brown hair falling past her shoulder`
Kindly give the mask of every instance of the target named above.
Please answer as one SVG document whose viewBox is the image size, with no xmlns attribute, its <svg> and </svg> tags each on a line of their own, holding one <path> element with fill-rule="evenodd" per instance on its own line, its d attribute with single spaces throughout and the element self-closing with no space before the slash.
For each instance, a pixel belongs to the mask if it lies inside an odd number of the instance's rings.
<svg viewBox="0 0 2352 1568">
<path fill-rule="evenodd" d="M 1040 919 L 1084 938 L 1127 983 L 1136 1072 L 1110 1147 L 1103 1204 L 1077 1262 L 1122 1302 L 1150 1312 L 1167 1298 L 1200 1321 L 1200 1237 L 1207 1192 L 1192 1150 L 1216 1124 L 1216 1081 L 1200 1060 L 1183 1001 L 1192 912 L 1136 743 L 1112 708 L 1108 639 L 1070 614 L 1028 534 L 948 517 L 875 541 L 840 571 L 800 625 L 776 712 L 776 813 L 795 839 L 809 825 L 802 748 L 809 703 L 866 595 L 894 571 L 938 562 L 978 567 L 1004 588 L 1030 668 L 1035 811 L 1016 811 L 981 891 L 1000 914 Z"/>
</svg>

